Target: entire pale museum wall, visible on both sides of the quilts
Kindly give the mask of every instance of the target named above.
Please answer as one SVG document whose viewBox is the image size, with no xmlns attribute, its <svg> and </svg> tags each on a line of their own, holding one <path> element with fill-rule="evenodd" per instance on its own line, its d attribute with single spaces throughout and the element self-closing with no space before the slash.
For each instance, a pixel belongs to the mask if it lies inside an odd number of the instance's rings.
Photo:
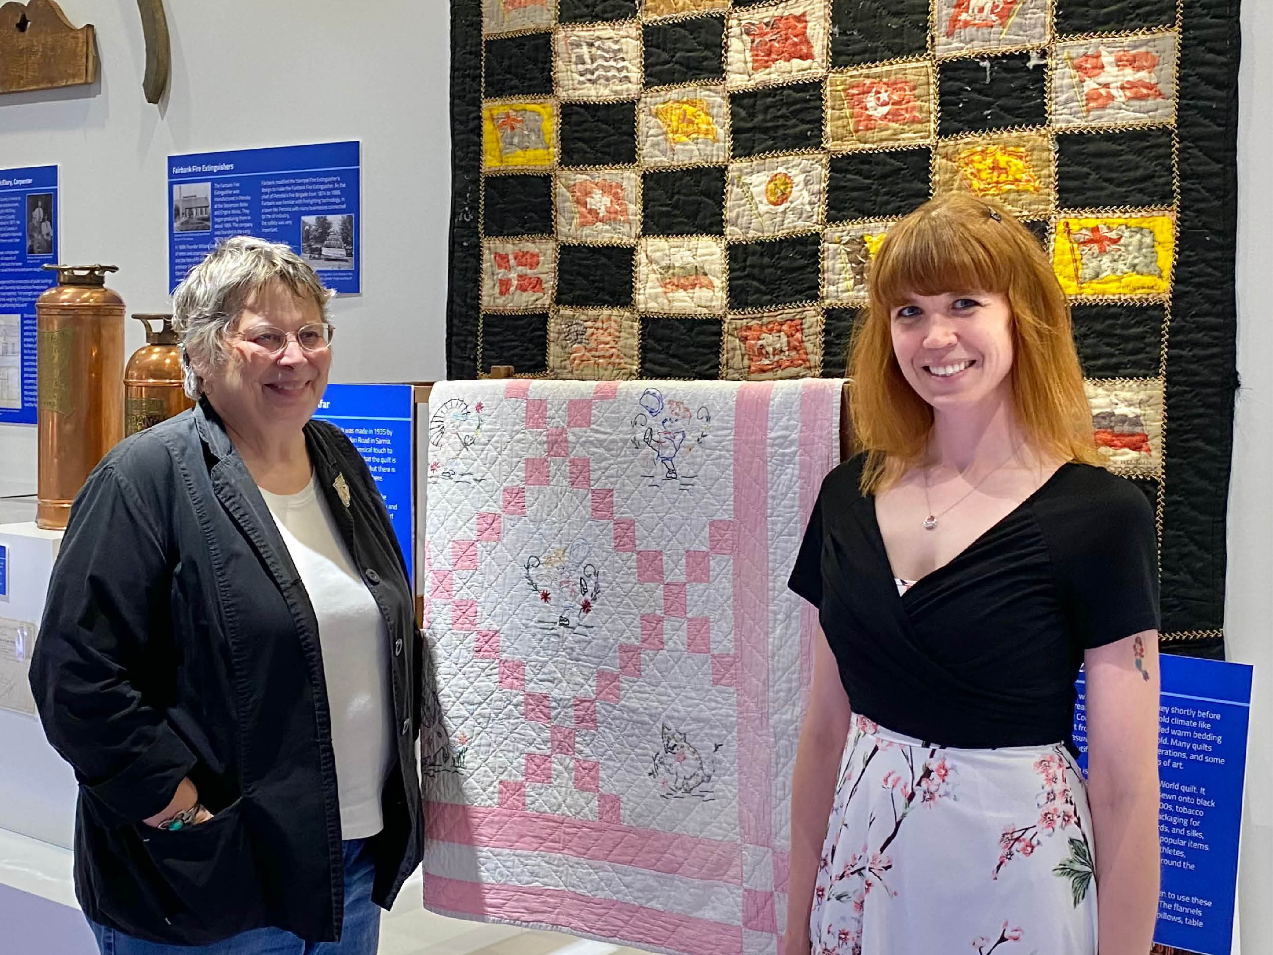
<svg viewBox="0 0 1273 955">
<path fill-rule="evenodd" d="M 144 43 L 132 0 L 61 0 L 93 22 L 92 88 L 0 99 L 0 167 L 61 167 L 62 261 L 106 261 L 130 311 L 164 311 L 169 153 L 360 139 L 362 295 L 334 304 L 336 381 L 444 376 L 449 222 L 446 0 L 167 0 L 173 79 L 141 96 Z M 374 13 L 372 13 L 374 11 Z M 1239 368 L 1228 525 L 1230 658 L 1255 665 L 1241 868 L 1246 955 L 1273 952 L 1273 261 L 1268 188 L 1273 3 L 1246 0 L 1239 129 Z M 129 322 L 130 326 L 137 325 Z M 129 329 L 127 351 L 143 343 Z M 0 425 L 0 495 L 36 486 L 34 428 Z"/>
</svg>

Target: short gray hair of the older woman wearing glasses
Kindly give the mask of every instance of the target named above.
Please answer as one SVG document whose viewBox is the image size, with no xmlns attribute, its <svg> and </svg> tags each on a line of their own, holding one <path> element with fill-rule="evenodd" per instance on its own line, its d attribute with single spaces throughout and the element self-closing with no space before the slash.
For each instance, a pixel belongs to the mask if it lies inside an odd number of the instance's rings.
<svg viewBox="0 0 1273 955">
<path fill-rule="evenodd" d="M 225 336 L 243 303 L 271 281 L 281 281 L 297 298 L 312 299 L 322 320 L 328 320 L 327 302 L 334 293 L 304 258 L 281 243 L 236 236 L 186 274 L 172 295 L 172 327 L 190 397 L 197 400 L 204 393 L 204 378 L 195 365 L 206 369 L 225 360 Z"/>
</svg>

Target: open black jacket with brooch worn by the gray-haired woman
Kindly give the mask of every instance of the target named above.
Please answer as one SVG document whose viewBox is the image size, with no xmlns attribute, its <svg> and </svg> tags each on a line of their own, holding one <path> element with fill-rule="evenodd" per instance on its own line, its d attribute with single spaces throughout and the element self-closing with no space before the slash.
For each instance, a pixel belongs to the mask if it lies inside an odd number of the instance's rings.
<svg viewBox="0 0 1273 955">
<path fill-rule="evenodd" d="M 388 625 L 397 763 L 384 829 L 370 840 L 374 899 L 387 908 L 423 848 L 420 633 L 367 466 L 332 425 L 304 430 L 317 486 Z M 261 926 L 339 937 L 340 809 L 318 624 L 206 400 L 123 441 L 76 497 L 31 686 L 79 779 L 75 891 L 90 919 L 186 945 Z M 186 775 L 214 817 L 178 831 L 141 823 Z"/>
</svg>

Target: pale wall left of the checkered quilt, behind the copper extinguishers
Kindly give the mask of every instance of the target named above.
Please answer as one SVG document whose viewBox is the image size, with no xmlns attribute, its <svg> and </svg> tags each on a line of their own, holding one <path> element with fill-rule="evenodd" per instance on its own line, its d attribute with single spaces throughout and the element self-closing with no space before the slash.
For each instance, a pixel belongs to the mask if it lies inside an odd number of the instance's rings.
<svg viewBox="0 0 1273 955">
<path fill-rule="evenodd" d="M 0 98 L 0 168 L 61 167 L 61 261 L 118 265 L 130 313 L 168 311 L 169 154 L 359 139 L 364 292 L 332 306 L 332 381 L 444 376 L 447 0 L 165 0 L 158 107 L 135 0 L 61 8 L 97 27 L 101 80 Z M 144 337 L 127 325 L 131 354 Z M 0 425 L 0 497 L 34 490 L 34 428 Z"/>
</svg>

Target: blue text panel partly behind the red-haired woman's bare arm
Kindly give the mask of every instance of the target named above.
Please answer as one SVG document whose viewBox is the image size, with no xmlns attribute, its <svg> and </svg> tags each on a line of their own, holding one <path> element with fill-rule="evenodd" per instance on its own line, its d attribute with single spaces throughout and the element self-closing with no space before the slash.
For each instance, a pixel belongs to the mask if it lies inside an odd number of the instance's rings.
<svg viewBox="0 0 1273 955">
<path fill-rule="evenodd" d="M 1162 889 L 1153 941 L 1228 955 L 1237 893 L 1251 667 L 1161 656 L 1158 777 Z M 1087 770 L 1087 708 L 1078 680 L 1074 742 Z"/>
</svg>

